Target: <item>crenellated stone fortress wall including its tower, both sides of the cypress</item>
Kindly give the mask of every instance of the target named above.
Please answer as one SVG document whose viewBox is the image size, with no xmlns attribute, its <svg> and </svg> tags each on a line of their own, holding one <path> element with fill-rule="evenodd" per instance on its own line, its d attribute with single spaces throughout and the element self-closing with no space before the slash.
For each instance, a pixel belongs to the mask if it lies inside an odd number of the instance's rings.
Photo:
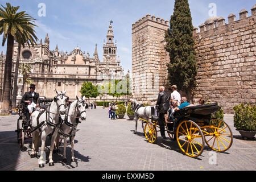
<svg viewBox="0 0 256 182">
<path fill-rule="evenodd" d="M 198 68 L 197 87 L 193 92 L 195 104 L 203 97 L 218 102 L 224 113 L 230 114 L 233 106 L 241 102 L 256 103 L 255 17 L 256 4 L 251 9 L 251 16 L 242 9 L 238 20 L 230 14 L 228 23 L 222 17 L 213 17 L 199 29 L 194 27 Z M 170 59 L 164 50 L 164 31 L 168 26 L 167 21 L 157 22 L 150 15 L 133 24 L 133 75 L 158 73 L 159 85 L 168 86 L 166 63 Z M 133 97 L 143 102 L 155 102 L 158 88 L 155 88 L 154 96 L 150 92 L 143 96 L 136 92 L 134 85 L 143 86 L 145 80 L 144 77 L 137 80 L 133 77 Z"/>
</svg>

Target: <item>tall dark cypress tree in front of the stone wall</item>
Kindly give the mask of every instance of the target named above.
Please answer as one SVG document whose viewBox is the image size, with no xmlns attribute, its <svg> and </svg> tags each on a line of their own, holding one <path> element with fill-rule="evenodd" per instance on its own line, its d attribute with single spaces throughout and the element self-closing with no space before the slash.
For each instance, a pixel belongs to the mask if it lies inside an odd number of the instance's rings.
<svg viewBox="0 0 256 182">
<path fill-rule="evenodd" d="M 175 1 L 174 14 L 171 16 L 165 40 L 166 51 L 170 53 L 170 64 L 167 64 L 168 80 L 171 85 L 177 85 L 190 101 L 192 90 L 196 86 L 197 65 L 188 0 Z"/>
</svg>

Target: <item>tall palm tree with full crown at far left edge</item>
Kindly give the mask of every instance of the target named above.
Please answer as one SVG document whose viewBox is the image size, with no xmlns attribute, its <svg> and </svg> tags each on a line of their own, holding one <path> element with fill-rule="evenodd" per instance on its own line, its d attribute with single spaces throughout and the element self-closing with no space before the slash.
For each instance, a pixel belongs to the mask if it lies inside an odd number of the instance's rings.
<svg viewBox="0 0 256 182">
<path fill-rule="evenodd" d="M 5 46 L 7 39 L 5 75 L 3 78 L 2 114 L 9 114 L 14 40 L 19 42 L 27 38 L 27 40 L 31 42 L 32 37 L 36 38 L 33 31 L 36 25 L 32 23 L 35 19 L 26 14 L 26 11 L 17 13 L 19 6 L 14 7 L 11 6 L 10 3 L 6 3 L 6 7 L 2 7 L 3 9 L 0 7 L 0 35 L 3 34 L 2 46 Z M 19 43 L 24 46 L 26 42 Z M 31 44 L 34 44 L 34 42 L 31 42 Z"/>
</svg>

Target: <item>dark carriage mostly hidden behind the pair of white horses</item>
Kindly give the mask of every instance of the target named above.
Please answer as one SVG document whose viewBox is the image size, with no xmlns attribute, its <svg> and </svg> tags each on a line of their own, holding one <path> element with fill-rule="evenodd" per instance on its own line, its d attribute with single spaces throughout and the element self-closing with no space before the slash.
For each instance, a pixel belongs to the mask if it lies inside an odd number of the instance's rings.
<svg viewBox="0 0 256 182">
<path fill-rule="evenodd" d="M 50 102 L 52 102 L 52 99 L 40 100 L 40 110 L 47 109 Z M 17 129 L 15 130 L 15 132 L 17 133 L 17 140 L 20 146 L 20 150 L 23 151 L 24 140 L 32 138 L 32 126 L 31 122 L 28 122 L 24 104 L 18 104 L 18 106 L 16 107 L 16 112 L 19 114 L 19 118 L 17 119 Z"/>
</svg>

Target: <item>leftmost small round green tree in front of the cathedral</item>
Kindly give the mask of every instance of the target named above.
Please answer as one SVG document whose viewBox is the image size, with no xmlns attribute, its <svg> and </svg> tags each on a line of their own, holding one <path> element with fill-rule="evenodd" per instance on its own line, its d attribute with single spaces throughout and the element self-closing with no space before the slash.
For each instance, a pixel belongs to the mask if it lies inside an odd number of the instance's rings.
<svg viewBox="0 0 256 182">
<path fill-rule="evenodd" d="M 99 95 L 97 86 L 94 86 L 92 82 L 86 81 L 84 81 L 84 83 L 82 84 L 80 93 L 82 94 L 82 97 L 85 96 L 86 98 L 88 98 L 89 102 L 90 98 L 96 98 Z"/>
</svg>

